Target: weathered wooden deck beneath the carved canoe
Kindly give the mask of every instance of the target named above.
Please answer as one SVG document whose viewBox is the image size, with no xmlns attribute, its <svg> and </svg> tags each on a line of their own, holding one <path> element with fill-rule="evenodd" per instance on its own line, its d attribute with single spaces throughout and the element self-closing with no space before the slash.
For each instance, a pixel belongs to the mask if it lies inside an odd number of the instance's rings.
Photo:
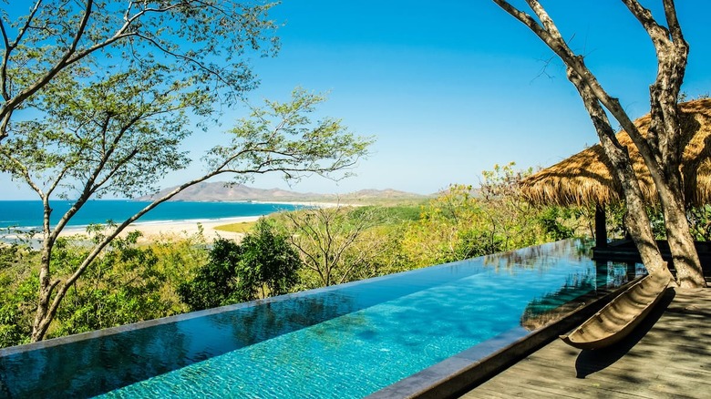
<svg viewBox="0 0 711 399">
<path fill-rule="evenodd" d="M 462 398 L 711 398 L 711 289 L 669 289 L 610 348 L 556 340 Z"/>
</svg>

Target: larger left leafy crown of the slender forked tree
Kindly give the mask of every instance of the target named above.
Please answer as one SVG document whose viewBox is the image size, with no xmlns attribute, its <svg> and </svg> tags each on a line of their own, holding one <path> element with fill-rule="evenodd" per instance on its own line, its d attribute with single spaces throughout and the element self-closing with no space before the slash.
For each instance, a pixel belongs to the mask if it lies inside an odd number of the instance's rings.
<svg viewBox="0 0 711 399">
<path fill-rule="evenodd" d="M 62 198 L 155 190 L 160 176 L 189 162 L 179 146 L 190 134 L 190 104 L 180 84 L 158 87 L 160 74 L 129 70 L 86 86 L 58 76 L 29 102 L 44 118 L 10 126 L 0 170 L 46 194 L 61 189 Z"/>
</svg>

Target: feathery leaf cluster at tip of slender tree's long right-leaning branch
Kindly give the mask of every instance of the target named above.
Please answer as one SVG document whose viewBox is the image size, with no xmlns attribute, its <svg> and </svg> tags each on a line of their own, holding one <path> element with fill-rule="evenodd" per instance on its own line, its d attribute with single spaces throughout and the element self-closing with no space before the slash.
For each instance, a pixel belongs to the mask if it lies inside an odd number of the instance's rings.
<svg viewBox="0 0 711 399">
<path fill-rule="evenodd" d="M 355 136 L 334 118 L 312 121 L 309 114 L 324 101 L 296 88 L 287 102 L 267 100 L 264 107 L 253 107 L 250 117 L 229 132 L 229 145 L 211 148 L 204 158 L 208 167 L 232 173 L 238 182 L 269 171 L 283 173 L 284 179 L 334 178 L 335 172 L 354 167 L 374 140 Z M 345 171 L 340 178 L 349 175 Z"/>
</svg>

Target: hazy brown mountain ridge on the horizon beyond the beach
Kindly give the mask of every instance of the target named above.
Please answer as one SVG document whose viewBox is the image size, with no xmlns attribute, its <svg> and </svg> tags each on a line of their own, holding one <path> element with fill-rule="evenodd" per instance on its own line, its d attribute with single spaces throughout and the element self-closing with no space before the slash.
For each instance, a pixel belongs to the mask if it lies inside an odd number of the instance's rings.
<svg viewBox="0 0 711 399">
<path fill-rule="evenodd" d="M 153 195 L 139 197 L 135 200 L 153 200 L 159 198 L 175 187 L 162 189 Z M 253 189 L 243 184 L 225 185 L 224 182 L 199 183 L 171 200 L 176 201 L 275 201 L 275 202 L 379 202 L 392 200 L 424 200 L 428 196 L 396 189 L 362 189 L 360 191 L 335 195 L 316 194 L 313 192 L 296 192 L 285 189 Z"/>
</svg>

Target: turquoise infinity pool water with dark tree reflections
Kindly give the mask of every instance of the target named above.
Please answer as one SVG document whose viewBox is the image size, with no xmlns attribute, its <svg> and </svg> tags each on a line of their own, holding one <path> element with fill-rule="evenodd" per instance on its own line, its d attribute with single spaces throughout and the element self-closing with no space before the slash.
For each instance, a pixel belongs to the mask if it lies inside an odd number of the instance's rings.
<svg viewBox="0 0 711 399">
<path fill-rule="evenodd" d="M 596 267 L 589 247 L 559 241 L 0 350 L 0 396 L 362 397 L 523 336 L 637 272 Z"/>
</svg>

